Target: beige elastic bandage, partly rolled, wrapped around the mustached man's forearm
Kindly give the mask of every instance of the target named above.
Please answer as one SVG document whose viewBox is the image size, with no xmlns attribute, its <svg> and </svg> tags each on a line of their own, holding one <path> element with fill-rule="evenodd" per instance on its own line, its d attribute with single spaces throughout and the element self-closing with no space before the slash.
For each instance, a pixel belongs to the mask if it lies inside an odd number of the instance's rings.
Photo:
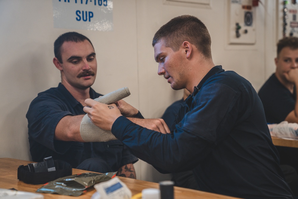
<svg viewBox="0 0 298 199">
<path fill-rule="evenodd" d="M 120 88 L 99 98 L 94 99 L 103 104 L 112 104 L 130 95 L 127 87 Z M 117 140 L 111 131 L 101 129 L 95 126 L 86 114 L 80 125 L 80 134 L 85 142 L 106 142 Z"/>
</svg>

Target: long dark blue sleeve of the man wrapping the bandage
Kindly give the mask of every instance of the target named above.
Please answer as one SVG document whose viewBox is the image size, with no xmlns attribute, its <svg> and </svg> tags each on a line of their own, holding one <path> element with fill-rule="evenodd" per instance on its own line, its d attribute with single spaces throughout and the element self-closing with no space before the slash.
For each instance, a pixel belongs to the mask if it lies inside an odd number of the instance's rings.
<svg viewBox="0 0 298 199">
<path fill-rule="evenodd" d="M 213 84 L 196 95 L 194 107 L 170 134 L 143 128 L 124 116 L 114 122 L 112 133 L 153 166 L 167 172 L 186 171 L 203 161 L 229 133 L 237 117 L 238 97 L 229 87 Z"/>
</svg>

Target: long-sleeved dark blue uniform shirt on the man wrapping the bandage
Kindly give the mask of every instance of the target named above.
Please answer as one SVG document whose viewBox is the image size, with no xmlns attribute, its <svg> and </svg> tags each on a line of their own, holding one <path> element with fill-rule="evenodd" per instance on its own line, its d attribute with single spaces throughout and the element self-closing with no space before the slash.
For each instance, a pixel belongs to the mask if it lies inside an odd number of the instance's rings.
<svg viewBox="0 0 298 199">
<path fill-rule="evenodd" d="M 112 133 L 159 171 L 193 169 L 202 191 L 239 198 L 293 198 L 260 98 L 233 71 L 213 67 L 179 110 L 170 134 L 120 116 Z"/>
</svg>

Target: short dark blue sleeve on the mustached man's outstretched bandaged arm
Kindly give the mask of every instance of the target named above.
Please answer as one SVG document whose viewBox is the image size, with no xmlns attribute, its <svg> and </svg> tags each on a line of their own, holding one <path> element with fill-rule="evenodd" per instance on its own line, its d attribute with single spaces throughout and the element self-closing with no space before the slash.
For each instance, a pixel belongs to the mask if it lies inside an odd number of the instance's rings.
<svg viewBox="0 0 298 199">
<path fill-rule="evenodd" d="M 69 111 L 64 111 L 64 106 L 55 96 L 41 95 L 32 101 L 26 114 L 30 138 L 61 154 L 71 146 L 71 142 L 61 144 L 61 141 L 54 139 L 58 122 L 64 116 L 72 115 Z"/>
</svg>

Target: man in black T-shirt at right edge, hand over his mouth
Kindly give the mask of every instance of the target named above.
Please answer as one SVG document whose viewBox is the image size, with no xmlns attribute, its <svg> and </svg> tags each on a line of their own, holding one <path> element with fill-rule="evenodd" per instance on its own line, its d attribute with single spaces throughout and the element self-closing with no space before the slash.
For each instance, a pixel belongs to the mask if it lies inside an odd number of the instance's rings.
<svg viewBox="0 0 298 199">
<path fill-rule="evenodd" d="M 268 124 L 282 121 L 298 123 L 298 38 L 285 37 L 277 43 L 277 57 L 274 59 L 276 71 L 269 77 L 258 92 Z M 294 167 L 285 174 L 298 195 L 298 148 L 276 147 L 280 154 L 280 164 Z M 292 173 L 292 174 L 291 174 Z M 293 187 L 293 186 L 292 186 Z"/>
</svg>

